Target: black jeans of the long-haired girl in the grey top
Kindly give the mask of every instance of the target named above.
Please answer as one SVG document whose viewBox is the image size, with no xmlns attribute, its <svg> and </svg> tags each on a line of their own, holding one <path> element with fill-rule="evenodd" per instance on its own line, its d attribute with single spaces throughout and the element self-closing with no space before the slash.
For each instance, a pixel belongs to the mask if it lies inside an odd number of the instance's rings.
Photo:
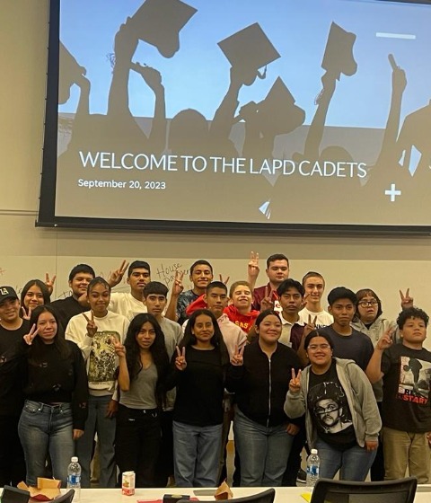
<svg viewBox="0 0 431 503">
<path fill-rule="evenodd" d="M 136 472 L 136 487 L 155 487 L 160 448 L 160 420 L 156 409 L 129 409 L 119 404 L 115 459 L 119 472 Z"/>
</svg>

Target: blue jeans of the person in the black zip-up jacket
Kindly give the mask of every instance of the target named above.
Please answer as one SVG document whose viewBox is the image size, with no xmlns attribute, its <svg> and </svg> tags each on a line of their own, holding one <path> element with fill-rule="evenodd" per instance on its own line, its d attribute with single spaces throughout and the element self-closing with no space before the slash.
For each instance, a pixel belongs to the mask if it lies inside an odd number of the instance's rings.
<svg viewBox="0 0 431 503">
<path fill-rule="evenodd" d="M 242 487 L 281 486 L 294 441 L 286 426 L 262 426 L 236 408 L 233 434 L 240 454 Z"/>
</svg>

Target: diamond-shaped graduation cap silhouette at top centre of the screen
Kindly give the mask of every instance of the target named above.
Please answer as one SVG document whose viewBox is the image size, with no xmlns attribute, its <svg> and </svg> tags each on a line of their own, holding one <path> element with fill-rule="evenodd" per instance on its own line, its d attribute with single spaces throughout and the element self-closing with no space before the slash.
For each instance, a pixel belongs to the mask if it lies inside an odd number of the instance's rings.
<svg viewBox="0 0 431 503">
<path fill-rule="evenodd" d="M 218 46 L 232 66 L 242 68 L 244 75 L 250 75 L 250 77 L 254 75 L 250 84 L 254 82 L 259 68 L 280 57 L 258 22 L 221 40 Z"/>
</svg>

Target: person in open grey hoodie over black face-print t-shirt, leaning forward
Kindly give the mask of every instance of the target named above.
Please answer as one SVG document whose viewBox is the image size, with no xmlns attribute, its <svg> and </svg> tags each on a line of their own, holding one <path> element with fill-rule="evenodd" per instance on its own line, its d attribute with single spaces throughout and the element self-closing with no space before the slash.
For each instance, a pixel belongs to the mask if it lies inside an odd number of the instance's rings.
<svg viewBox="0 0 431 503">
<path fill-rule="evenodd" d="M 308 445 L 319 451 L 320 476 L 365 481 L 382 428 L 373 388 L 352 360 L 333 357 L 329 335 L 311 331 L 304 340 L 310 366 L 292 371 L 285 412 L 305 413 Z"/>
</svg>

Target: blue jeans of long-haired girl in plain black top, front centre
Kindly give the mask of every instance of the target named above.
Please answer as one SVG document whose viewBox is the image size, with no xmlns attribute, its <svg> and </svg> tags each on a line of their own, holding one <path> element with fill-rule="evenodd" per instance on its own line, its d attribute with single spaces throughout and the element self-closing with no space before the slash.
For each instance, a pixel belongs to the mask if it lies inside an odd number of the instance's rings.
<svg viewBox="0 0 431 503">
<path fill-rule="evenodd" d="M 216 487 L 222 424 L 193 426 L 173 421 L 173 471 L 177 487 Z"/>
</svg>

